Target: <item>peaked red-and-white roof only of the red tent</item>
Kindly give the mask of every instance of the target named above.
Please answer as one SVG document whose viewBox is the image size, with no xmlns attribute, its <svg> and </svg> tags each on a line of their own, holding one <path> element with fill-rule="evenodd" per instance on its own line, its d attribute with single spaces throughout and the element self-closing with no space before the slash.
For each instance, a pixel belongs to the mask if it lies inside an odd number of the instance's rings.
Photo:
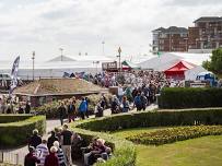
<svg viewBox="0 0 222 166">
<path fill-rule="evenodd" d="M 196 66 L 190 63 L 190 62 L 187 62 L 187 61 L 179 61 L 177 62 L 176 64 L 174 64 L 172 68 L 165 70 L 166 72 L 175 72 L 175 71 L 186 71 L 186 70 L 189 70 L 189 69 L 192 69 L 195 68 Z"/>
</svg>

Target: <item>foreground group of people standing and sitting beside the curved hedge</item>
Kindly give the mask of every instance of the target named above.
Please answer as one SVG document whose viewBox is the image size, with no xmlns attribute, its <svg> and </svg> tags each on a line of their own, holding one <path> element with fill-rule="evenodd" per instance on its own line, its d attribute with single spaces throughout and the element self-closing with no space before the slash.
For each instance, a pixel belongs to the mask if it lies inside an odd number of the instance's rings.
<svg viewBox="0 0 222 166">
<path fill-rule="evenodd" d="M 77 147 L 79 151 L 74 151 Z M 24 166 L 71 166 L 72 159 L 77 159 L 74 153 L 79 153 L 84 165 L 89 166 L 97 161 L 107 161 L 112 153 L 110 147 L 100 138 L 93 138 L 92 143 L 84 146 L 82 138 L 70 131 L 68 124 L 51 131 L 48 139 L 42 138 L 38 131 L 34 130 L 28 141 L 28 151 Z"/>
</svg>

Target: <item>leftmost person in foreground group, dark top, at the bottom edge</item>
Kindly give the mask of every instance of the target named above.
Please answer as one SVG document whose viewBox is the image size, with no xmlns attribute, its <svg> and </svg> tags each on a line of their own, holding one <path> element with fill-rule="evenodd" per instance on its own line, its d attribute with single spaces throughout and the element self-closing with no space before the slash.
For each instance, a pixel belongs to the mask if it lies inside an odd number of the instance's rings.
<svg viewBox="0 0 222 166">
<path fill-rule="evenodd" d="M 28 151 L 30 153 L 25 156 L 24 159 L 24 166 L 36 166 L 36 164 L 40 163 L 40 161 L 34 155 L 35 147 L 30 146 Z"/>
</svg>

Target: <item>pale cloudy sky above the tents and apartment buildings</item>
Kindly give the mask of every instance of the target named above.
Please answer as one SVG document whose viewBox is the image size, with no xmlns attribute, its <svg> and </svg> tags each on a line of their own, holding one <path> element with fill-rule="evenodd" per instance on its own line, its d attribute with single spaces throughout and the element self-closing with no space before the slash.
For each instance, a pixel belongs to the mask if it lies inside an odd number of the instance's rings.
<svg viewBox="0 0 222 166">
<path fill-rule="evenodd" d="M 152 29 L 222 16 L 222 0 L 0 0 L 0 61 L 149 55 Z M 104 44 L 103 44 L 104 42 Z M 104 51 L 103 51 L 104 50 Z"/>
</svg>

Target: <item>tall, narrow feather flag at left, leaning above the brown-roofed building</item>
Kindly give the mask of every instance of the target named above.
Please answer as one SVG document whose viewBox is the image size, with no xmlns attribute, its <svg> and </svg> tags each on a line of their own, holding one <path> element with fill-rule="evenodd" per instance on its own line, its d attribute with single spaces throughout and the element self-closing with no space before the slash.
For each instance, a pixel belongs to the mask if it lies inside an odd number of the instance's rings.
<svg viewBox="0 0 222 166">
<path fill-rule="evenodd" d="M 17 71 L 19 71 L 19 63 L 20 63 L 20 56 L 16 57 L 14 63 L 12 66 L 11 71 L 11 86 L 10 86 L 10 94 L 12 94 L 13 90 L 17 86 Z"/>
</svg>

